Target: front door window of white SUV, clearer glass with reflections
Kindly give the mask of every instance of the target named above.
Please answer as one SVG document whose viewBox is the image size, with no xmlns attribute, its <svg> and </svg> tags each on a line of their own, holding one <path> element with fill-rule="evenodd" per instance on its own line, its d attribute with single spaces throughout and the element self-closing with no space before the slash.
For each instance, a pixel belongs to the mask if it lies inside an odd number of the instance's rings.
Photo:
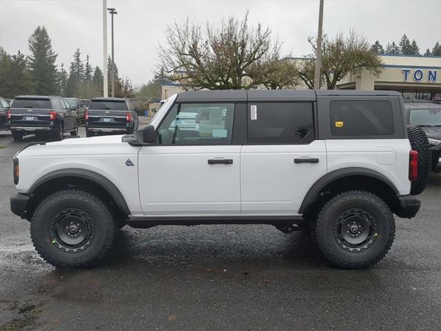
<svg viewBox="0 0 441 331">
<path fill-rule="evenodd" d="M 225 145 L 232 142 L 234 103 L 175 105 L 161 123 L 163 145 Z"/>
</svg>

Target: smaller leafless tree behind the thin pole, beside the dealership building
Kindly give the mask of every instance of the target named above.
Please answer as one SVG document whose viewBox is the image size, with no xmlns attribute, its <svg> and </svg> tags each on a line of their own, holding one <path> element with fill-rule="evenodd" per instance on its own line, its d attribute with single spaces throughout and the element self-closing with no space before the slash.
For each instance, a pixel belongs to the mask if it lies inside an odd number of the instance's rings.
<svg viewBox="0 0 441 331">
<path fill-rule="evenodd" d="M 300 61 L 298 74 L 308 88 L 314 88 L 314 54 L 317 41 L 312 37 L 308 41 L 313 54 Z M 362 68 L 378 77 L 382 72 L 381 66 L 381 58 L 371 50 L 369 39 L 357 30 L 350 30 L 347 36 L 338 32 L 334 39 L 329 39 L 326 34 L 323 36 L 320 81 L 326 83 L 328 90 L 334 90 L 336 83 L 349 72 L 360 72 Z"/>
</svg>

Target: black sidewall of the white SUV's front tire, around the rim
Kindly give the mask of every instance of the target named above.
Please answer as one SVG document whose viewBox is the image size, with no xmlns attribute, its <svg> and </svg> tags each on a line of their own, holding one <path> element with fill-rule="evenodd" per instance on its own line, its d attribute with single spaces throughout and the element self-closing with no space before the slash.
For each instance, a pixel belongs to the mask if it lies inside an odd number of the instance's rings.
<svg viewBox="0 0 441 331">
<path fill-rule="evenodd" d="M 51 199 L 50 203 L 43 201 L 39 208 L 42 209 L 41 212 L 36 210 L 31 221 L 32 240 L 41 248 L 43 254 L 48 255 L 51 260 L 56 261 L 56 263 L 61 266 L 81 265 L 94 261 L 105 248 L 107 237 L 113 235 L 112 232 L 109 231 L 111 227 L 109 227 L 107 223 L 112 221 L 110 215 L 106 215 L 101 208 L 96 208 L 96 206 L 82 199 L 74 197 Z M 50 223 L 52 222 L 52 218 L 57 212 L 66 208 L 78 208 L 83 210 L 93 220 L 94 239 L 90 243 L 90 246 L 81 252 L 63 252 L 51 241 Z"/>
</svg>

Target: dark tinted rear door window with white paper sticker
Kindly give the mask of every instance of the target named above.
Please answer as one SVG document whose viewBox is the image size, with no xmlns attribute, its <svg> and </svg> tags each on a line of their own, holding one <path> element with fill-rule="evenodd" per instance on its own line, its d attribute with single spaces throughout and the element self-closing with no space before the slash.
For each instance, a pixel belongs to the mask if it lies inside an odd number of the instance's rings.
<svg viewBox="0 0 441 331">
<path fill-rule="evenodd" d="M 314 141 L 312 103 L 250 103 L 248 143 Z"/>
</svg>

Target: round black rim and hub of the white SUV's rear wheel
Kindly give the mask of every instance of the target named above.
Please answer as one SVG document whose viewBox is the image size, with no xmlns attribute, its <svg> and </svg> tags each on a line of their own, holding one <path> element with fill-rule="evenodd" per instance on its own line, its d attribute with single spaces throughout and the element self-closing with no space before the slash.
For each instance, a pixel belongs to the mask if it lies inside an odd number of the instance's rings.
<svg viewBox="0 0 441 331">
<path fill-rule="evenodd" d="M 337 218 L 334 237 L 341 248 L 349 252 L 362 252 L 376 240 L 377 225 L 367 210 L 351 208 Z"/>
</svg>

